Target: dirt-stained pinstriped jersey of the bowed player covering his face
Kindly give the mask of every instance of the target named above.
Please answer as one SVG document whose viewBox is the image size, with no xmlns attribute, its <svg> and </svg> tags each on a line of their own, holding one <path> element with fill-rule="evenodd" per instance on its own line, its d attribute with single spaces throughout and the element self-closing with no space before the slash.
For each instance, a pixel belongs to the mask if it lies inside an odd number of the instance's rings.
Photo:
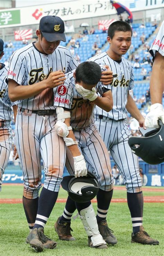
<svg viewBox="0 0 164 256">
<path fill-rule="evenodd" d="M 75 89 L 75 79 L 73 73 L 66 74 L 66 80 L 63 85 L 54 88 L 54 106 L 62 106 L 71 110 L 71 126 L 74 129 L 81 129 L 94 122 L 93 102 L 83 99 Z M 104 69 L 102 69 L 104 71 Z M 104 86 L 99 82 L 96 90 L 100 95 L 103 94 L 103 87 L 111 89 L 110 86 Z"/>
</svg>

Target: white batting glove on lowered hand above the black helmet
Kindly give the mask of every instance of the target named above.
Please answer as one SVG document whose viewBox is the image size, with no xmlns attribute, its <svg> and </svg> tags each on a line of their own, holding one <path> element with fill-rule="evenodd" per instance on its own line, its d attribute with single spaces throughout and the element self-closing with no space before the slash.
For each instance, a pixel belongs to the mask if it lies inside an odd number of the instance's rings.
<svg viewBox="0 0 164 256">
<path fill-rule="evenodd" d="M 86 163 L 83 155 L 78 155 L 78 157 L 73 157 L 73 160 L 74 160 L 75 178 L 87 175 Z"/>
</svg>

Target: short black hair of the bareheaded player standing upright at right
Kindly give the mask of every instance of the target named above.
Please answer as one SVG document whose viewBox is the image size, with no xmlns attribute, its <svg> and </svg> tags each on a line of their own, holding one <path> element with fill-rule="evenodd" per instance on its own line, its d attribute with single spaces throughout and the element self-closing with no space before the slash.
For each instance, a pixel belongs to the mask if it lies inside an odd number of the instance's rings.
<svg viewBox="0 0 164 256">
<path fill-rule="evenodd" d="M 125 21 L 115 21 L 115 22 L 113 22 L 108 27 L 108 37 L 110 37 L 112 39 L 114 37 L 116 31 L 123 31 L 123 32 L 130 31 L 131 36 L 132 36 L 132 33 L 133 33 L 132 29 L 131 29 L 131 26 Z"/>
</svg>

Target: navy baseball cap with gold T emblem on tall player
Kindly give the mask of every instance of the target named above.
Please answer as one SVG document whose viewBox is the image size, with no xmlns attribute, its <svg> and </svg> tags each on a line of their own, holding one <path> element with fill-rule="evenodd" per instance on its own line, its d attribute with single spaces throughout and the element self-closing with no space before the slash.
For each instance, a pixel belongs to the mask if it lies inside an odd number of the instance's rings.
<svg viewBox="0 0 164 256">
<path fill-rule="evenodd" d="M 44 16 L 40 19 L 39 30 L 42 31 L 44 38 L 48 42 L 64 41 L 66 42 L 64 34 L 64 22 L 57 16 Z"/>
</svg>

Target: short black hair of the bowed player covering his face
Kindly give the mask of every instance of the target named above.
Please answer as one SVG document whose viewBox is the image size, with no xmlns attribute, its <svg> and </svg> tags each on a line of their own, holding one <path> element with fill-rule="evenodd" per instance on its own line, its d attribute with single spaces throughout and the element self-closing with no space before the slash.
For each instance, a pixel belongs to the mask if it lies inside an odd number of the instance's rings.
<svg viewBox="0 0 164 256">
<path fill-rule="evenodd" d="M 76 82 L 84 82 L 88 85 L 97 85 L 101 79 L 101 67 L 93 61 L 85 61 L 79 64 L 75 70 Z"/>
</svg>

